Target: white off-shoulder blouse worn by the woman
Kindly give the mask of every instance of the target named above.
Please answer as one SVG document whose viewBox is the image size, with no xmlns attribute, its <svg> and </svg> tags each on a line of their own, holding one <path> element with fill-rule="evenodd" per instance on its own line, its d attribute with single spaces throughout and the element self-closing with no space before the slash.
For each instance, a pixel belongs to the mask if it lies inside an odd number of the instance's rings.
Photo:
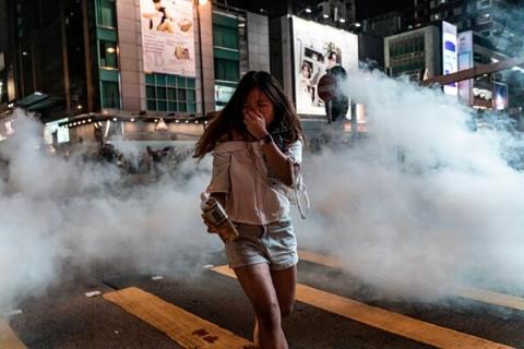
<svg viewBox="0 0 524 349">
<path fill-rule="evenodd" d="M 284 154 L 302 161 L 302 142 L 287 144 Z M 269 170 L 257 142 L 218 143 L 213 152 L 213 176 L 207 192 L 226 194 L 226 212 L 235 222 L 267 225 L 289 218 L 284 185 Z"/>
</svg>

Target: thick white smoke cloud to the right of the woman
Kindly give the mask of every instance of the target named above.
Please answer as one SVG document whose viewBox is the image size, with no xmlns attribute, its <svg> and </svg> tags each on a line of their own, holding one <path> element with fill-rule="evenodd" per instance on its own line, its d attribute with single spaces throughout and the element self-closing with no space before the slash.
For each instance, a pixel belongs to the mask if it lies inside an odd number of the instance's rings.
<svg viewBox="0 0 524 349">
<path fill-rule="evenodd" d="M 472 111 L 407 81 L 355 72 L 346 89 L 369 132 L 306 159 L 313 216 L 297 221 L 299 243 L 384 297 L 434 299 L 473 280 L 524 289 L 524 176 L 501 155 L 516 139 L 472 131 Z"/>
</svg>

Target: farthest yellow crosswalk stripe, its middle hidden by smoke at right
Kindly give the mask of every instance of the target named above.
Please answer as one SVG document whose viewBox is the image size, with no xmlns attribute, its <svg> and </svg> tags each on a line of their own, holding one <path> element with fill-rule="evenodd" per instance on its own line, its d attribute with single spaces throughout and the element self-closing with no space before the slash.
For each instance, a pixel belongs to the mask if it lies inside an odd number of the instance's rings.
<svg viewBox="0 0 524 349">
<path fill-rule="evenodd" d="M 300 260 L 322 264 L 332 268 L 344 268 L 340 258 L 309 251 L 299 251 Z M 455 296 L 473 299 L 483 303 L 524 311 L 524 298 L 498 293 L 488 290 L 464 287 L 454 291 Z"/>
</svg>

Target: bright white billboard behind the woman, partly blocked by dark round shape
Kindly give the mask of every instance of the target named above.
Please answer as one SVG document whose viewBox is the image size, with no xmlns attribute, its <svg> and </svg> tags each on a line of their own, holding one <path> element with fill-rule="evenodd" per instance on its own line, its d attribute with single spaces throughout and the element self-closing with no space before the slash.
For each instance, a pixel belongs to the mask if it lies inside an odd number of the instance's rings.
<svg viewBox="0 0 524 349">
<path fill-rule="evenodd" d="M 358 36 L 296 16 L 291 21 L 297 112 L 325 115 L 318 83 L 333 65 L 358 69 Z"/>
</svg>

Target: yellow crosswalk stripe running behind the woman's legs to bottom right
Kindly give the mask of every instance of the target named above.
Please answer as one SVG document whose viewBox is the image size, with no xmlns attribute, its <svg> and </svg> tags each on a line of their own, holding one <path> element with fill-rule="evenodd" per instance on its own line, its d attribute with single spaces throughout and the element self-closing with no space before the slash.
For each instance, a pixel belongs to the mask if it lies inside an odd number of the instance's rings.
<svg viewBox="0 0 524 349">
<path fill-rule="evenodd" d="M 235 273 L 227 266 L 212 269 L 235 278 Z M 509 349 L 498 342 L 463 334 L 446 327 L 437 326 L 409 316 L 370 306 L 348 298 L 335 296 L 306 285 L 297 285 L 297 300 L 324 311 L 357 321 L 359 323 L 424 342 L 437 348 L 449 349 Z"/>
</svg>

